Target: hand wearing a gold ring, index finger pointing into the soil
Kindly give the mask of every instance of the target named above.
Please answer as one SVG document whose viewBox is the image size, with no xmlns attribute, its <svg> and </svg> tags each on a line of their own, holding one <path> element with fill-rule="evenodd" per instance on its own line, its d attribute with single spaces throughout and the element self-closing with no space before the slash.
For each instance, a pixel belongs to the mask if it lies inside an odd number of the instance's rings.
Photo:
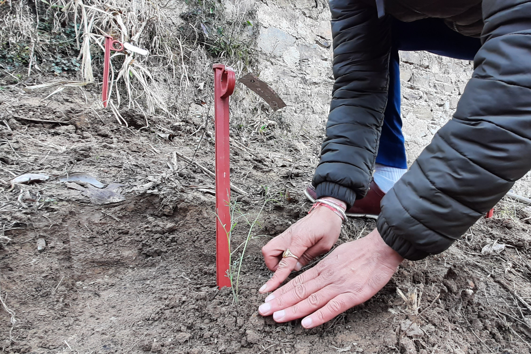
<svg viewBox="0 0 531 354">
<path fill-rule="evenodd" d="M 265 265 L 275 274 L 259 291 L 275 290 L 293 270 L 301 270 L 316 256 L 330 251 L 339 237 L 341 222 L 338 214 L 320 205 L 263 246 Z M 282 258 L 287 248 L 299 259 Z"/>
</svg>

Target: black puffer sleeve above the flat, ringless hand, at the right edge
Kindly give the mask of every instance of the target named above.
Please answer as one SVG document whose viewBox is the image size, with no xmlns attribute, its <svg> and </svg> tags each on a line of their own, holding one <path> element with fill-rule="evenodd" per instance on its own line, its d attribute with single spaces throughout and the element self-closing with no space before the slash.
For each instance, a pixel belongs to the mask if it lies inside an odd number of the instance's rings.
<svg viewBox="0 0 531 354">
<path fill-rule="evenodd" d="M 531 169 L 531 1 L 483 0 L 483 46 L 453 118 L 382 200 L 386 243 L 447 249 Z"/>
</svg>

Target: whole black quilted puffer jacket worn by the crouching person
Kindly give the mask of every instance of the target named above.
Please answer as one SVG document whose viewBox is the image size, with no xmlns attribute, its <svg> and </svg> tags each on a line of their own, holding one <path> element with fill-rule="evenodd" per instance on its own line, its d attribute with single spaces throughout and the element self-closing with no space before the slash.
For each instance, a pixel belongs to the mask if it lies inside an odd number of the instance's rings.
<svg viewBox="0 0 531 354">
<path fill-rule="evenodd" d="M 531 0 L 330 0 L 330 10 L 336 81 L 313 185 L 348 205 L 365 196 L 378 151 L 391 16 L 481 31 L 456 113 L 383 198 L 377 222 L 409 260 L 440 253 L 531 169 Z"/>
</svg>

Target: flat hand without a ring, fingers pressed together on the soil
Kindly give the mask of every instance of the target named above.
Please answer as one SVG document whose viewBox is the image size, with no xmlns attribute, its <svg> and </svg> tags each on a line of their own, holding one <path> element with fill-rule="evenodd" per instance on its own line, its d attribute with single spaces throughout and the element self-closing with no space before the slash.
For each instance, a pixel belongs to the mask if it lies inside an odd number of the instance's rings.
<svg viewBox="0 0 531 354">
<path fill-rule="evenodd" d="M 273 292 L 258 308 L 276 322 L 306 316 L 302 326 L 319 326 L 378 292 L 404 260 L 373 230 L 337 247 L 312 269 Z"/>
</svg>

